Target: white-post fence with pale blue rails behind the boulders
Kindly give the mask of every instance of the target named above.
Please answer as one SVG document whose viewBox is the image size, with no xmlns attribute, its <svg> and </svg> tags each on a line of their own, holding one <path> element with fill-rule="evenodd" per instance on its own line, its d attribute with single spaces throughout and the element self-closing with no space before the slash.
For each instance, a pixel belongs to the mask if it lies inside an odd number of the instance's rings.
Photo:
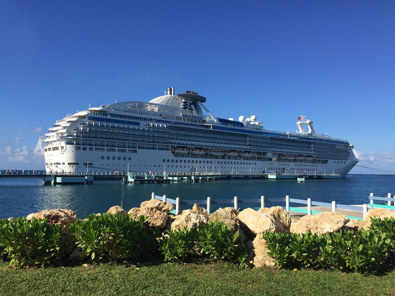
<svg viewBox="0 0 395 296">
<path fill-rule="evenodd" d="M 388 195 L 390 195 L 388 193 Z M 376 197 L 376 199 L 380 199 L 381 197 Z M 382 197 L 384 198 L 384 197 Z M 332 201 L 331 203 L 329 202 L 316 202 L 312 201 L 310 198 L 307 200 L 304 199 L 293 199 L 290 198 L 289 195 L 286 195 L 285 198 L 265 198 L 265 196 L 261 196 L 259 199 L 240 199 L 239 197 L 235 196 L 233 199 L 211 199 L 211 197 L 207 197 L 207 199 L 202 199 L 202 200 L 181 200 L 179 197 L 176 199 L 169 199 L 166 197 L 166 195 L 163 196 L 158 196 L 155 195 L 154 192 L 151 194 L 151 199 L 158 199 L 162 200 L 164 202 L 171 202 L 174 205 L 174 210 L 171 211 L 171 213 L 178 215 L 180 214 L 180 206 L 190 206 L 194 204 L 202 205 L 206 207 L 207 212 L 209 215 L 211 214 L 211 207 L 212 205 L 226 205 L 226 206 L 233 206 L 233 208 L 240 210 L 238 206 L 240 204 L 260 204 L 260 207 L 252 207 L 254 210 L 259 210 L 260 208 L 265 207 L 265 202 L 271 202 L 271 203 L 276 203 L 281 206 L 281 204 L 285 203 L 285 206 L 282 206 L 288 213 L 290 212 L 297 212 L 301 214 L 307 214 L 307 215 L 314 215 L 318 214 L 320 212 L 327 212 L 325 210 L 330 209 L 331 212 L 341 212 L 342 214 L 346 215 L 349 219 L 358 219 L 358 220 L 364 220 L 368 211 L 368 208 L 373 208 L 372 205 L 377 206 L 376 204 L 363 204 L 363 205 L 347 205 L 347 204 L 337 204 L 337 202 Z M 385 199 L 391 199 L 391 198 L 385 198 Z M 380 199 L 381 200 L 381 199 Z M 395 196 L 392 198 L 392 200 L 395 200 Z M 290 204 L 299 204 L 303 206 L 290 206 Z M 307 206 L 307 207 L 306 207 Z M 316 206 L 316 208 L 320 209 L 321 211 L 316 211 L 312 210 L 312 206 Z M 395 205 L 394 206 L 386 206 L 386 208 L 389 208 L 392 210 L 395 210 Z"/>
</svg>

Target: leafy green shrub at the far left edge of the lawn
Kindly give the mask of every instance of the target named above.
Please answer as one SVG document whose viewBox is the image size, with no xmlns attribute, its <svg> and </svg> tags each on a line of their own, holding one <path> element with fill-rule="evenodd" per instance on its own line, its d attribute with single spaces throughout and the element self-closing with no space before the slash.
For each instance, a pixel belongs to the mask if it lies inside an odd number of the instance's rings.
<svg viewBox="0 0 395 296">
<path fill-rule="evenodd" d="M 2 254 L 11 259 L 11 266 L 59 262 L 66 248 L 63 228 L 48 224 L 48 220 L 16 218 L 2 223 Z"/>
</svg>

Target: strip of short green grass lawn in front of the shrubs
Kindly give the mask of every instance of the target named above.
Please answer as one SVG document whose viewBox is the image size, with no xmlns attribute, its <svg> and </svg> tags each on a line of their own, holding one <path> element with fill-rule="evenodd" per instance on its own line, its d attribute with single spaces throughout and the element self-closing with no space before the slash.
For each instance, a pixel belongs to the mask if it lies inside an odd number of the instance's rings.
<svg viewBox="0 0 395 296">
<path fill-rule="evenodd" d="M 395 295 L 395 271 L 238 269 L 232 264 L 77 264 L 9 269 L 0 262 L 0 295 Z"/>
</svg>

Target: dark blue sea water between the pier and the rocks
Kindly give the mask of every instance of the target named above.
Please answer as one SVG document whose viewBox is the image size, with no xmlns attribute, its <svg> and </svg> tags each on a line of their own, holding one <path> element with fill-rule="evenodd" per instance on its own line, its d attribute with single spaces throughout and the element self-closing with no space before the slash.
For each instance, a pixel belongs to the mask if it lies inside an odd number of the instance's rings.
<svg viewBox="0 0 395 296">
<path fill-rule="evenodd" d="M 98 212 L 107 212 L 120 205 L 130 210 L 149 200 L 151 193 L 181 200 L 310 198 L 313 201 L 338 204 L 369 203 L 370 193 L 384 196 L 395 194 L 395 175 L 348 175 L 340 180 L 216 180 L 199 183 L 172 182 L 169 184 L 124 184 L 120 181 L 94 182 L 90 185 L 43 185 L 41 178 L 0 178 L 0 219 L 26 216 L 45 209 L 67 208 L 79 218 Z M 122 190 L 122 187 L 123 190 Z M 265 203 L 265 206 L 285 204 Z M 229 205 L 221 205 L 232 206 Z M 242 204 L 239 204 L 242 206 Z M 243 205 L 258 206 L 255 205 Z M 299 205 L 300 206 L 300 205 Z M 218 208 L 219 206 L 217 206 Z M 216 207 L 212 206 L 215 210 Z"/>
</svg>

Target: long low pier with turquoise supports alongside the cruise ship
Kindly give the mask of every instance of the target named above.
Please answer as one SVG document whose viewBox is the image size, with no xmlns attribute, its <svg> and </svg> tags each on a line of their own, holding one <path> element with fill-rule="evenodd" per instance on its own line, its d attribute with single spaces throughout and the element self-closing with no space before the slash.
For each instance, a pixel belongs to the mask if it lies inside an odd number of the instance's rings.
<svg viewBox="0 0 395 296">
<path fill-rule="evenodd" d="M 44 184 L 93 184 L 94 181 L 122 180 L 125 183 L 170 183 L 170 182 L 204 182 L 213 180 L 305 180 L 340 179 L 340 174 L 311 173 L 291 174 L 288 172 L 262 172 L 262 173 L 207 173 L 207 172 L 44 172 L 26 174 L 5 174 L 0 172 L 0 178 L 43 178 Z M 303 181 L 302 181 L 303 180 Z"/>
</svg>

